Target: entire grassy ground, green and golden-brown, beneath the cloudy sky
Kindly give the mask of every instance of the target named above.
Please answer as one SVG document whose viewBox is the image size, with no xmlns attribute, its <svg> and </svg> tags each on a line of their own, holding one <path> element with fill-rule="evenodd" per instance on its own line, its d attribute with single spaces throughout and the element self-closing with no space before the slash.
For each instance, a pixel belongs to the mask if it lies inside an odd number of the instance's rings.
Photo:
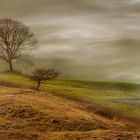
<svg viewBox="0 0 140 140">
<path fill-rule="evenodd" d="M 9 72 L 0 81 L 1 139 L 140 138 L 138 90 L 57 79 L 35 91 L 27 77 Z"/>
</svg>

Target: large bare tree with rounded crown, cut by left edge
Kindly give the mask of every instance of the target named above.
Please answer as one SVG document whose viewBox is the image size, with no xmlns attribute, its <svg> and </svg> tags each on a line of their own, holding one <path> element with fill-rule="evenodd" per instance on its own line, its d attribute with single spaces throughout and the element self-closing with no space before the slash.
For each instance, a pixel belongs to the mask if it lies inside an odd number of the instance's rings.
<svg viewBox="0 0 140 140">
<path fill-rule="evenodd" d="M 21 22 L 11 19 L 0 19 L 0 59 L 9 64 L 13 71 L 13 61 L 25 61 L 24 49 L 37 43 L 34 34 Z"/>
</svg>

